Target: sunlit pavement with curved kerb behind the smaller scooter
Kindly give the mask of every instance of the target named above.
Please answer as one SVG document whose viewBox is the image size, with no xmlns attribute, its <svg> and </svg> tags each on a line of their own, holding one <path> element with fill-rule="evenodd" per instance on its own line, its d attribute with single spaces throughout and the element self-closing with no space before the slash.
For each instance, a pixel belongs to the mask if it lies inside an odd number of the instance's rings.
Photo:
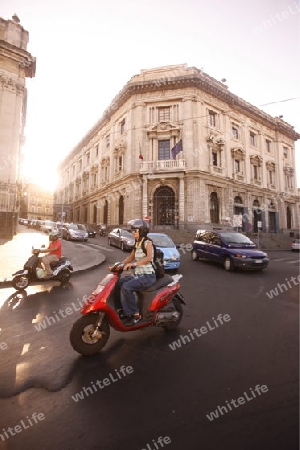
<svg viewBox="0 0 300 450">
<path fill-rule="evenodd" d="M 0 288 L 9 285 L 12 274 L 23 269 L 24 263 L 31 256 L 32 246 L 39 248 L 48 245 L 49 238 L 45 233 L 18 225 L 18 233 L 11 241 L 0 239 Z M 99 250 L 86 245 L 85 242 L 62 240 L 63 256 L 70 258 L 73 273 L 97 267 L 106 257 Z M 2 285 L 2 286 L 1 286 Z"/>
</svg>

